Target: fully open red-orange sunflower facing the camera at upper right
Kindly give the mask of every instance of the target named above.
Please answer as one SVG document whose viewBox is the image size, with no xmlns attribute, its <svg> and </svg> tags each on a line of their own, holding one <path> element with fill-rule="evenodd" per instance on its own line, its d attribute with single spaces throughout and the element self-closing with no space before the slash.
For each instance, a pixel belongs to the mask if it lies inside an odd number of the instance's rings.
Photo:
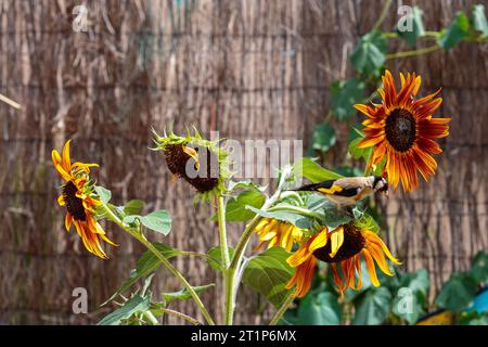
<svg viewBox="0 0 488 347">
<path fill-rule="evenodd" d="M 358 147 L 374 146 L 368 167 L 373 169 L 386 157 L 383 174 L 387 174 L 389 183 L 398 188 L 401 181 L 404 191 L 419 187 L 418 170 L 425 181 L 437 169 L 432 154 L 442 150 L 435 139 L 449 134 L 447 124 L 450 118 L 433 118 L 433 113 L 442 102 L 435 98 L 439 91 L 415 99 L 421 86 L 421 77 L 400 74 L 401 88 L 397 92 L 391 74 L 386 70 L 383 76 L 383 88 L 378 90 L 382 104 L 355 107 L 368 116 L 362 123 L 364 139 Z"/>
</svg>

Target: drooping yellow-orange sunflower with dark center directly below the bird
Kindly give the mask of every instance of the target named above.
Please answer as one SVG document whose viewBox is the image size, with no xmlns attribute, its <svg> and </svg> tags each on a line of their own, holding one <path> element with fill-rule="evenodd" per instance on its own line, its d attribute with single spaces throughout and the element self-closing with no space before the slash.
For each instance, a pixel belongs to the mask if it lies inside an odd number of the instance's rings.
<svg viewBox="0 0 488 347">
<path fill-rule="evenodd" d="M 375 262 L 384 273 L 393 275 L 385 255 L 394 264 L 400 264 L 383 241 L 370 230 L 360 229 L 354 223 L 343 224 L 332 232 L 323 228 L 287 258 L 286 261 L 295 268 L 295 273 L 286 283 L 286 288 L 296 285 L 294 295 L 305 296 L 310 290 L 316 264 L 321 260 L 331 264 L 334 283 L 341 294 L 348 287 L 360 290 L 362 286 L 360 256 L 365 261 L 371 283 L 378 286 Z M 338 268 L 342 269 L 343 275 L 339 274 Z"/>
</svg>

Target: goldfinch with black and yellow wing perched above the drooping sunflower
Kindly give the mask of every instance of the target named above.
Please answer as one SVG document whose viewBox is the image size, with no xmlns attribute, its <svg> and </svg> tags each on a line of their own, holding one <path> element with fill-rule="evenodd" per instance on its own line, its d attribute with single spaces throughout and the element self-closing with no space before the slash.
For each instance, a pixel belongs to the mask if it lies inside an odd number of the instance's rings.
<svg viewBox="0 0 488 347">
<path fill-rule="evenodd" d="M 388 182 L 380 176 L 344 177 L 320 183 L 306 184 L 294 191 L 318 192 L 328 197 L 338 209 L 356 205 L 376 192 L 388 193 Z"/>
</svg>

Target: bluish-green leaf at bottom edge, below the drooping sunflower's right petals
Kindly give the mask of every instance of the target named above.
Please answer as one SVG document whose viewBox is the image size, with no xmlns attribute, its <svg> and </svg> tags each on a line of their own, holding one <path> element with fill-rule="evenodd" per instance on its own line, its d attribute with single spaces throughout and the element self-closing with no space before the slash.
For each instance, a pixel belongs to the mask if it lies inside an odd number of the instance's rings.
<svg viewBox="0 0 488 347">
<path fill-rule="evenodd" d="M 352 320 L 355 325 L 378 325 L 382 324 L 389 311 L 391 294 L 383 286 L 369 288 L 356 304 L 356 316 Z"/>
</svg>

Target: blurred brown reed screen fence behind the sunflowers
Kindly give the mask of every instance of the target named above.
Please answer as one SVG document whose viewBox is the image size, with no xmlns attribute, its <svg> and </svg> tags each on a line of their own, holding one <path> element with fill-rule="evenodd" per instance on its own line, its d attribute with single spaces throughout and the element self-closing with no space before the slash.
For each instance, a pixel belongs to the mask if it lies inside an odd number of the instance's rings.
<svg viewBox="0 0 488 347">
<path fill-rule="evenodd" d="M 113 201 L 141 198 L 147 210 L 168 209 L 174 228 L 164 242 L 204 252 L 218 243 L 209 210 L 193 207 L 185 184 L 171 183 L 163 156 L 147 151 L 149 128 L 172 121 L 179 131 L 195 125 L 235 140 L 303 139 L 306 151 L 331 108 L 331 82 L 352 75 L 347 57 L 383 2 L 0 0 L 0 93 L 22 105 L 0 103 L 0 323 L 94 323 L 111 310 L 99 305 L 143 252 L 113 224 L 105 229 L 120 246 L 108 247 L 106 261 L 88 254 L 74 230 L 66 233 L 52 149 L 73 139 L 72 156 L 101 165 L 94 176 Z M 438 30 L 458 10 L 484 1 L 416 2 L 425 27 Z M 402 3 L 415 2 L 394 1 L 385 28 L 395 27 Z M 74 30 L 77 4 L 88 9 L 88 31 Z M 488 49 L 460 43 L 386 66 L 395 76 L 420 74 L 422 94 L 442 87 L 437 116 L 452 118 L 432 183 L 391 194 L 384 209 L 385 242 L 403 269 L 429 270 L 435 295 L 488 246 Z M 333 167 L 347 153 L 350 129 L 331 123 L 337 141 L 323 160 Z M 234 240 L 241 227 L 232 229 Z M 175 264 L 193 284 L 216 281 L 198 259 Z M 156 282 L 159 291 L 178 287 L 164 272 Z M 75 287 L 87 288 L 90 313 L 73 313 Z M 261 298 L 241 293 L 237 323 L 270 318 Z M 203 298 L 220 312 L 218 297 Z"/>
</svg>

